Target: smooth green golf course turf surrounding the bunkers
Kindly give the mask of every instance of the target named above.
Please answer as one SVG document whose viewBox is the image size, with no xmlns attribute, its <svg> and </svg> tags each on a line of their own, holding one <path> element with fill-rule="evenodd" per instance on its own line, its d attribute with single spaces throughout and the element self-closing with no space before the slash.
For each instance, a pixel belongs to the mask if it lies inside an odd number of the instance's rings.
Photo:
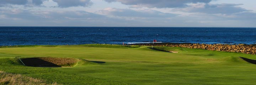
<svg viewBox="0 0 256 85">
<path fill-rule="evenodd" d="M 179 47 L 65 45 L 0 48 L 0 70 L 64 85 L 254 85 L 256 65 L 243 53 Z M 75 67 L 27 67 L 16 56 L 69 57 Z"/>
</svg>

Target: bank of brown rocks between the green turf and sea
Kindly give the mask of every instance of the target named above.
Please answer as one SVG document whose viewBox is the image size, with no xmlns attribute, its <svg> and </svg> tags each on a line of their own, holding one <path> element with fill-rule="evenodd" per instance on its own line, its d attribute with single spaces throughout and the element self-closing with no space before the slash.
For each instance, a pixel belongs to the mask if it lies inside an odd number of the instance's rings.
<svg viewBox="0 0 256 85">
<path fill-rule="evenodd" d="M 152 44 L 132 44 L 132 45 L 152 46 Z M 256 54 L 255 44 L 254 45 L 246 45 L 246 44 L 229 45 L 229 44 L 154 43 L 154 46 L 186 47 L 191 49 L 204 49 L 204 50 L 214 50 L 214 51 Z"/>
</svg>

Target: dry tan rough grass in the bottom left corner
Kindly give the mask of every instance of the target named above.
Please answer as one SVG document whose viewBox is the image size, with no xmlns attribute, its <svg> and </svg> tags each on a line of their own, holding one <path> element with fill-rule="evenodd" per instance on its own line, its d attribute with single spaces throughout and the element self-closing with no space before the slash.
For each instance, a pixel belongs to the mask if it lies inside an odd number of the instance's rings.
<svg viewBox="0 0 256 85">
<path fill-rule="evenodd" d="M 31 77 L 24 77 L 20 74 L 10 74 L 0 71 L 0 85 L 60 85 L 57 83 L 48 84 L 44 80 Z"/>
</svg>

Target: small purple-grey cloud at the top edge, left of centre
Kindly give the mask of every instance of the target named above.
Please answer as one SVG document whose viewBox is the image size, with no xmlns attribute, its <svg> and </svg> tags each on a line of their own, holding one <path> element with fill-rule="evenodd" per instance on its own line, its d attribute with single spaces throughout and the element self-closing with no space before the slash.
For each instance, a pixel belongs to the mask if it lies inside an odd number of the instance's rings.
<svg viewBox="0 0 256 85">
<path fill-rule="evenodd" d="M 59 7 L 75 7 L 75 6 L 90 6 L 92 5 L 91 0 L 53 0 L 58 3 Z"/>
</svg>

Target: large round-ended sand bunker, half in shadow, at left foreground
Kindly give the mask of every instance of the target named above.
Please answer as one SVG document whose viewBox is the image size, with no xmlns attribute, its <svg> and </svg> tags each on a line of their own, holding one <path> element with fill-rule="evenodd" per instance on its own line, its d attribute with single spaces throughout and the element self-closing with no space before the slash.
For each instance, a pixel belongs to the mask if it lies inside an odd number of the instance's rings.
<svg viewBox="0 0 256 85">
<path fill-rule="evenodd" d="M 75 58 L 54 58 L 54 57 L 34 57 L 24 58 L 22 62 L 26 66 L 32 67 L 73 67 L 78 63 Z"/>
</svg>

